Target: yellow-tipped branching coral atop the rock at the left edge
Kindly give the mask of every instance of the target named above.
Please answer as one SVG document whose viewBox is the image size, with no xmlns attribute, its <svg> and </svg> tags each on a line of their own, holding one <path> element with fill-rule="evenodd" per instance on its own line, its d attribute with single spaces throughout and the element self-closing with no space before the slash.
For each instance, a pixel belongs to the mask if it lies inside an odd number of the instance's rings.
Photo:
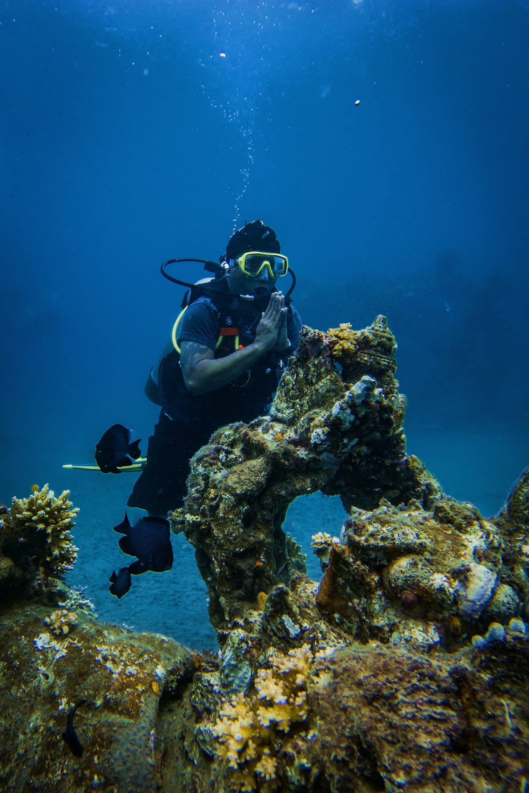
<svg viewBox="0 0 529 793">
<path fill-rule="evenodd" d="M 13 498 L 9 515 L 2 521 L 2 554 L 21 569 L 36 573 L 40 581 L 62 576 L 77 558 L 70 532 L 79 509 L 72 509 L 69 495 L 65 490 L 56 498 L 49 485 L 33 489 L 29 498 Z"/>
</svg>

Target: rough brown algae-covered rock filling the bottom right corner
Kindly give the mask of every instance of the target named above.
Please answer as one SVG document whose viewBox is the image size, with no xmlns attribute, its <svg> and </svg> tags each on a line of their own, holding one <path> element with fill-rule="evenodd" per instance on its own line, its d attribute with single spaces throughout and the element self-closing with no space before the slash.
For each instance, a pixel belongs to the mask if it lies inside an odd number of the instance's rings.
<svg viewBox="0 0 529 793">
<path fill-rule="evenodd" d="M 529 642 L 521 634 L 509 641 L 480 660 L 468 650 L 426 657 L 376 644 L 336 653 L 332 684 L 310 698 L 318 727 L 289 789 L 521 789 Z"/>
</svg>

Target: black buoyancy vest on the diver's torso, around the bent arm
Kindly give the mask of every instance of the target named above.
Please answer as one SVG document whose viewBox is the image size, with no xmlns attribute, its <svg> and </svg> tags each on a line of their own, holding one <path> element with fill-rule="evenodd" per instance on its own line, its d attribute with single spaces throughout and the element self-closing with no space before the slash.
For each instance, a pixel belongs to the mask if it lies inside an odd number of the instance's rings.
<svg viewBox="0 0 529 793">
<path fill-rule="evenodd" d="M 256 321 L 249 323 L 242 316 L 240 298 L 230 293 L 226 278 L 215 279 L 215 289 L 215 293 L 205 293 L 197 285 L 196 289 L 190 290 L 184 301 L 190 305 L 199 297 L 209 297 L 217 310 L 219 321 L 215 358 L 224 358 L 255 340 L 255 329 L 259 320 L 256 316 Z M 178 334 L 175 331 L 174 336 L 176 335 Z M 277 354 L 268 351 L 251 369 L 220 389 L 194 395 L 186 388 L 180 354 L 173 348 L 159 364 L 156 393 L 158 398 L 155 402 L 182 429 L 189 427 L 192 431 L 200 429 L 213 432 L 217 427 L 235 421 L 247 423 L 266 413 L 267 405 L 270 404 L 278 385 L 279 366 L 280 359 Z"/>
</svg>

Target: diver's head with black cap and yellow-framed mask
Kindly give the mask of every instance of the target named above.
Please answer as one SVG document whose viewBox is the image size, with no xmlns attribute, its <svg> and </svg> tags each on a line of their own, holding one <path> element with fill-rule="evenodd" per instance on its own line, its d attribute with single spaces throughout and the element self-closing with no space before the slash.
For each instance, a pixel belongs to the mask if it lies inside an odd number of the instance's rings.
<svg viewBox="0 0 529 793">
<path fill-rule="evenodd" d="M 277 279 L 288 270 L 286 257 L 280 251 L 273 228 L 265 226 L 263 220 L 245 223 L 226 246 L 230 291 L 261 297 L 267 304 L 270 294 L 277 290 Z"/>
</svg>

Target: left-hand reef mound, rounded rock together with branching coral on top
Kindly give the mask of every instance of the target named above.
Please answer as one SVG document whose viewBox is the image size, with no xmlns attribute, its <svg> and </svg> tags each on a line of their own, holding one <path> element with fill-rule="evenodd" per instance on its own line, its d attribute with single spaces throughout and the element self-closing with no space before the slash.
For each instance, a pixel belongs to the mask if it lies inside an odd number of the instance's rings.
<svg viewBox="0 0 529 793">
<path fill-rule="evenodd" d="M 160 702 L 181 698 L 194 654 L 98 623 L 90 600 L 60 578 L 75 563 L 79 510 L 68 492 L 32 489 L 0 509 L 0 787 L 155 791 Z M 62 737 L 78 703 L 81 757 Z"/>
</svg>

